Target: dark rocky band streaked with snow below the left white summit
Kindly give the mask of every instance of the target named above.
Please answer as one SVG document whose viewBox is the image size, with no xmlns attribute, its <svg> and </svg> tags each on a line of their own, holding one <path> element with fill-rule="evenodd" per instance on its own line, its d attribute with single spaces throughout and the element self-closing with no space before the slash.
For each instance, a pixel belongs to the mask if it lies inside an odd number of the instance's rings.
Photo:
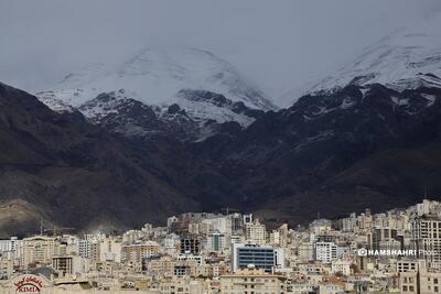
<svg viewBox="0 0 441 294">
<path fill-rule="evenodd" d="M 265 113 L 262 110 L 250 109 L 244 102 L 234 102 L 220 94 L 204 90 L 181 90 L 178 92 L 180 104 L 162 108 L 148 106 L 123 94 L 123 90 L 103 92 L 80 105 L 77 111 L 93 124 L 123 137 L 168 137 L 181 141 L 204 140 L 228 123 L 241 129 L 243 126 L 235 121 L 235 117 L 241 116 L 244 121 L 250 123 Z M 187 112 L 189 107 L 181 108 L 189 104 L 198 109 L 204 106 L 216 107 L 219 111 L 202 118 Z"/>
</svg>

